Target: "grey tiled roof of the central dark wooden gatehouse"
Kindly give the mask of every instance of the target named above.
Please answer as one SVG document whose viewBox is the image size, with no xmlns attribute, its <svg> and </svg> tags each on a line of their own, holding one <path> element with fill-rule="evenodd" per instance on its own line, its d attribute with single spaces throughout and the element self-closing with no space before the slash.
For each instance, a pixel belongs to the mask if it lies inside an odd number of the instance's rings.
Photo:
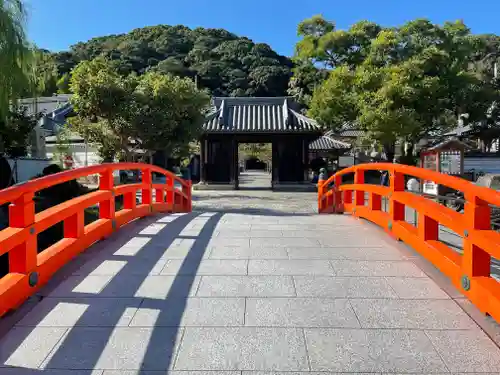
<svg viewBox="0 0 500 375">
<path fill-rule="evenodd" d="M 287 97 L 214 98 L 206 133 L 318 133 L 320 126 L 301 115 Z"/>
</svg>

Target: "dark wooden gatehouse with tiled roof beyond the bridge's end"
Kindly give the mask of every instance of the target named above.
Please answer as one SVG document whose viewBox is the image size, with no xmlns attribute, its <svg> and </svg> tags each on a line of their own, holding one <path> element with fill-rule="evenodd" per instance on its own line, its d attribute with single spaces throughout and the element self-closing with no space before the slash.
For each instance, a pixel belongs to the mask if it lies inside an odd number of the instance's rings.
<svg viewBox="0 0 500 375">
<path fill-rule="evenodd" d="M 215 97 L 201 137 L 202 185 L 239 188 L 238 144 L 272 144 L 272 187 L 307 183 L 310 143 L 322 128 L 290 97 Z"/>
</svg>

